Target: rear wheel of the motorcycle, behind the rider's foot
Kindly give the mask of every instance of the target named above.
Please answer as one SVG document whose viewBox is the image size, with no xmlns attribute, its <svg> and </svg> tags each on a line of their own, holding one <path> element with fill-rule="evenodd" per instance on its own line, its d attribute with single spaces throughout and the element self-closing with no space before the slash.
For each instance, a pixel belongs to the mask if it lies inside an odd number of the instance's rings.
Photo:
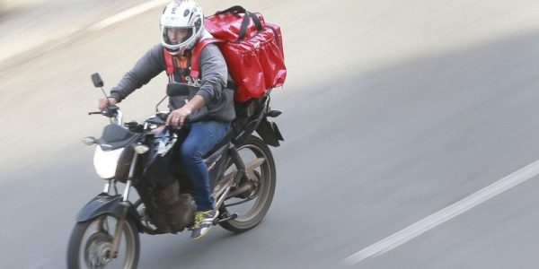
<svg viewBox="0 0 539 269">
<path fill-rule="evenodd" d="M 226 211 L 229 213 L 236 213 L 235 210 L 238 206 L 242 206 L 245 209 L 244 213 L 238 213 L 236 219 L 219 222 L 219 225 L 225 228 L 225 230 L 241 233 L 257 226 L 266 213 L 268 213 L 273 195 L 275 194 L 276 169 L 270 148 L 261 138 L 251 135 L 243 143 L 236 145 L 236 147 L 245 164 L 257 158 L 263 158 L 265 160 L 254 170 L 259 182 L 249 197 L 231 198 L 226 200 L 224 204 Z M 231 169 L 235 169 L 234 165 L 231 165 L 229 171 Z M 243 202 L 246 203 L 242 204 Z M 231 204 L 239 205 L 232 206 Z"/>
</svg>

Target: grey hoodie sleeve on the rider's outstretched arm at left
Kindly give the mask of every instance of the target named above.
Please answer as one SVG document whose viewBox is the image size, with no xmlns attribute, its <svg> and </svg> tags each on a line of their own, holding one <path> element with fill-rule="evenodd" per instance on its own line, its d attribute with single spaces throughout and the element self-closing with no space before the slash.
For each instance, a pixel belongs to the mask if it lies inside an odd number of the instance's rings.
<svg viewBox="0 0 539 269">
<path fill-rule="evenodd" d="M 150 48 L 137 64 L 126 73 L 115 87 L 110 89 L 110 96 L 121 101 L 131 92 L 139 89 L 165 69 L 163 46 L 161 44 Z"/>
</svg>

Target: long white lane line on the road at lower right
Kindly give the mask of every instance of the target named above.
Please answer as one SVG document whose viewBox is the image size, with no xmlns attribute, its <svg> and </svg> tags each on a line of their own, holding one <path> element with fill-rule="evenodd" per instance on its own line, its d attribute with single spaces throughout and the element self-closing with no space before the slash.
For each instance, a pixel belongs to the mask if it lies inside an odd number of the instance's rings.
<svg viewBox="0 0 539 269">
<path fill-rule="evenodd" d="M 421 221 L 411 224 L 404 230 L 396 232 L 392 236 L 378 241 L 370 247 L 364 248 L 358 253 L 347 257 L 342 262 L 345 265 L 355 265 L 370 256 L 382 255 L 385 252 L 390 251 L 395 247 L 399 247 L 411 239 L 420 236 L 420 234 L 437 227 L 445 221 L 449 221 L 456 216 L 465 213 L 474 206 L 482 204 L 490 198 L 525 182 L 527 179 L 535 177 L 537 174 L 539 174 L 539 160 L 517 170 L 505 178 L 499 179 L 488 187 L 482 188 L 481 190 L 473 193 L 473 195 L 469 195 L 463 200 L 458 201 L 455 204 L 451 204 Z"/>
</svg>

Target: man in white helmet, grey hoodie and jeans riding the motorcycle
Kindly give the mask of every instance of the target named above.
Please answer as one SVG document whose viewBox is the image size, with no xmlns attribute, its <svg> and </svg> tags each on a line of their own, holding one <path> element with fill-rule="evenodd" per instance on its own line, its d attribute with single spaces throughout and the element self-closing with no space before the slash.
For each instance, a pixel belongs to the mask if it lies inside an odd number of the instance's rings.
<svg viewBox="0 0 539 269">
<path fill-rule="evenodd" d="M 186 169 L 195 191 L 197 211 L 191 233 L 199 239 L 208 233 L 218 215 L 209 185 L 208 167 L 202 157 L 221 140 L 234 119 L 234 91 L 226 88 L 225 59 L 214 44 L 204 47 L 199 55 L 200 76 L 190 77 L 191 52 L 201 39 L 211 38 L 204 28 L 204 16 L 199 4 L 192 0 L 176 0 L 167 4 L 161 15 L 162 42 L 150 48 L 137 64 L 111 88 L 110 97 L 99 100 L 99 108 L 116 104 L 145 85 L 166 69 L 165 55 L 172 56 L 174 73 L 169 82 L 189 82 L 199 91 L 189 99 L 169 98 L 172 112 L 168 126 L 189 130 L 181 144 L 181 164 Z M 186 122 L 187 117 L 189 121 Z"/>
</svg>

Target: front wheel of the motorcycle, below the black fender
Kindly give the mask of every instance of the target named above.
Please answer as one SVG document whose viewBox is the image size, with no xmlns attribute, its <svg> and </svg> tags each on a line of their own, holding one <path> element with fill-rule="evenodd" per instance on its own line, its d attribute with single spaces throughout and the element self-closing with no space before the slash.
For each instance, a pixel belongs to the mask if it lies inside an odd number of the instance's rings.
<svg viewBox="0 0 539 269">
<path fill-rule="evenodd" d="M 119 219 L 110 214 L 76 223 L 67 247 L 67 268 L 137 268 L 140 239 L 132 221 L 124 222 L 118 254 L 112 253 L 118 224 Z"/>
</svg>

